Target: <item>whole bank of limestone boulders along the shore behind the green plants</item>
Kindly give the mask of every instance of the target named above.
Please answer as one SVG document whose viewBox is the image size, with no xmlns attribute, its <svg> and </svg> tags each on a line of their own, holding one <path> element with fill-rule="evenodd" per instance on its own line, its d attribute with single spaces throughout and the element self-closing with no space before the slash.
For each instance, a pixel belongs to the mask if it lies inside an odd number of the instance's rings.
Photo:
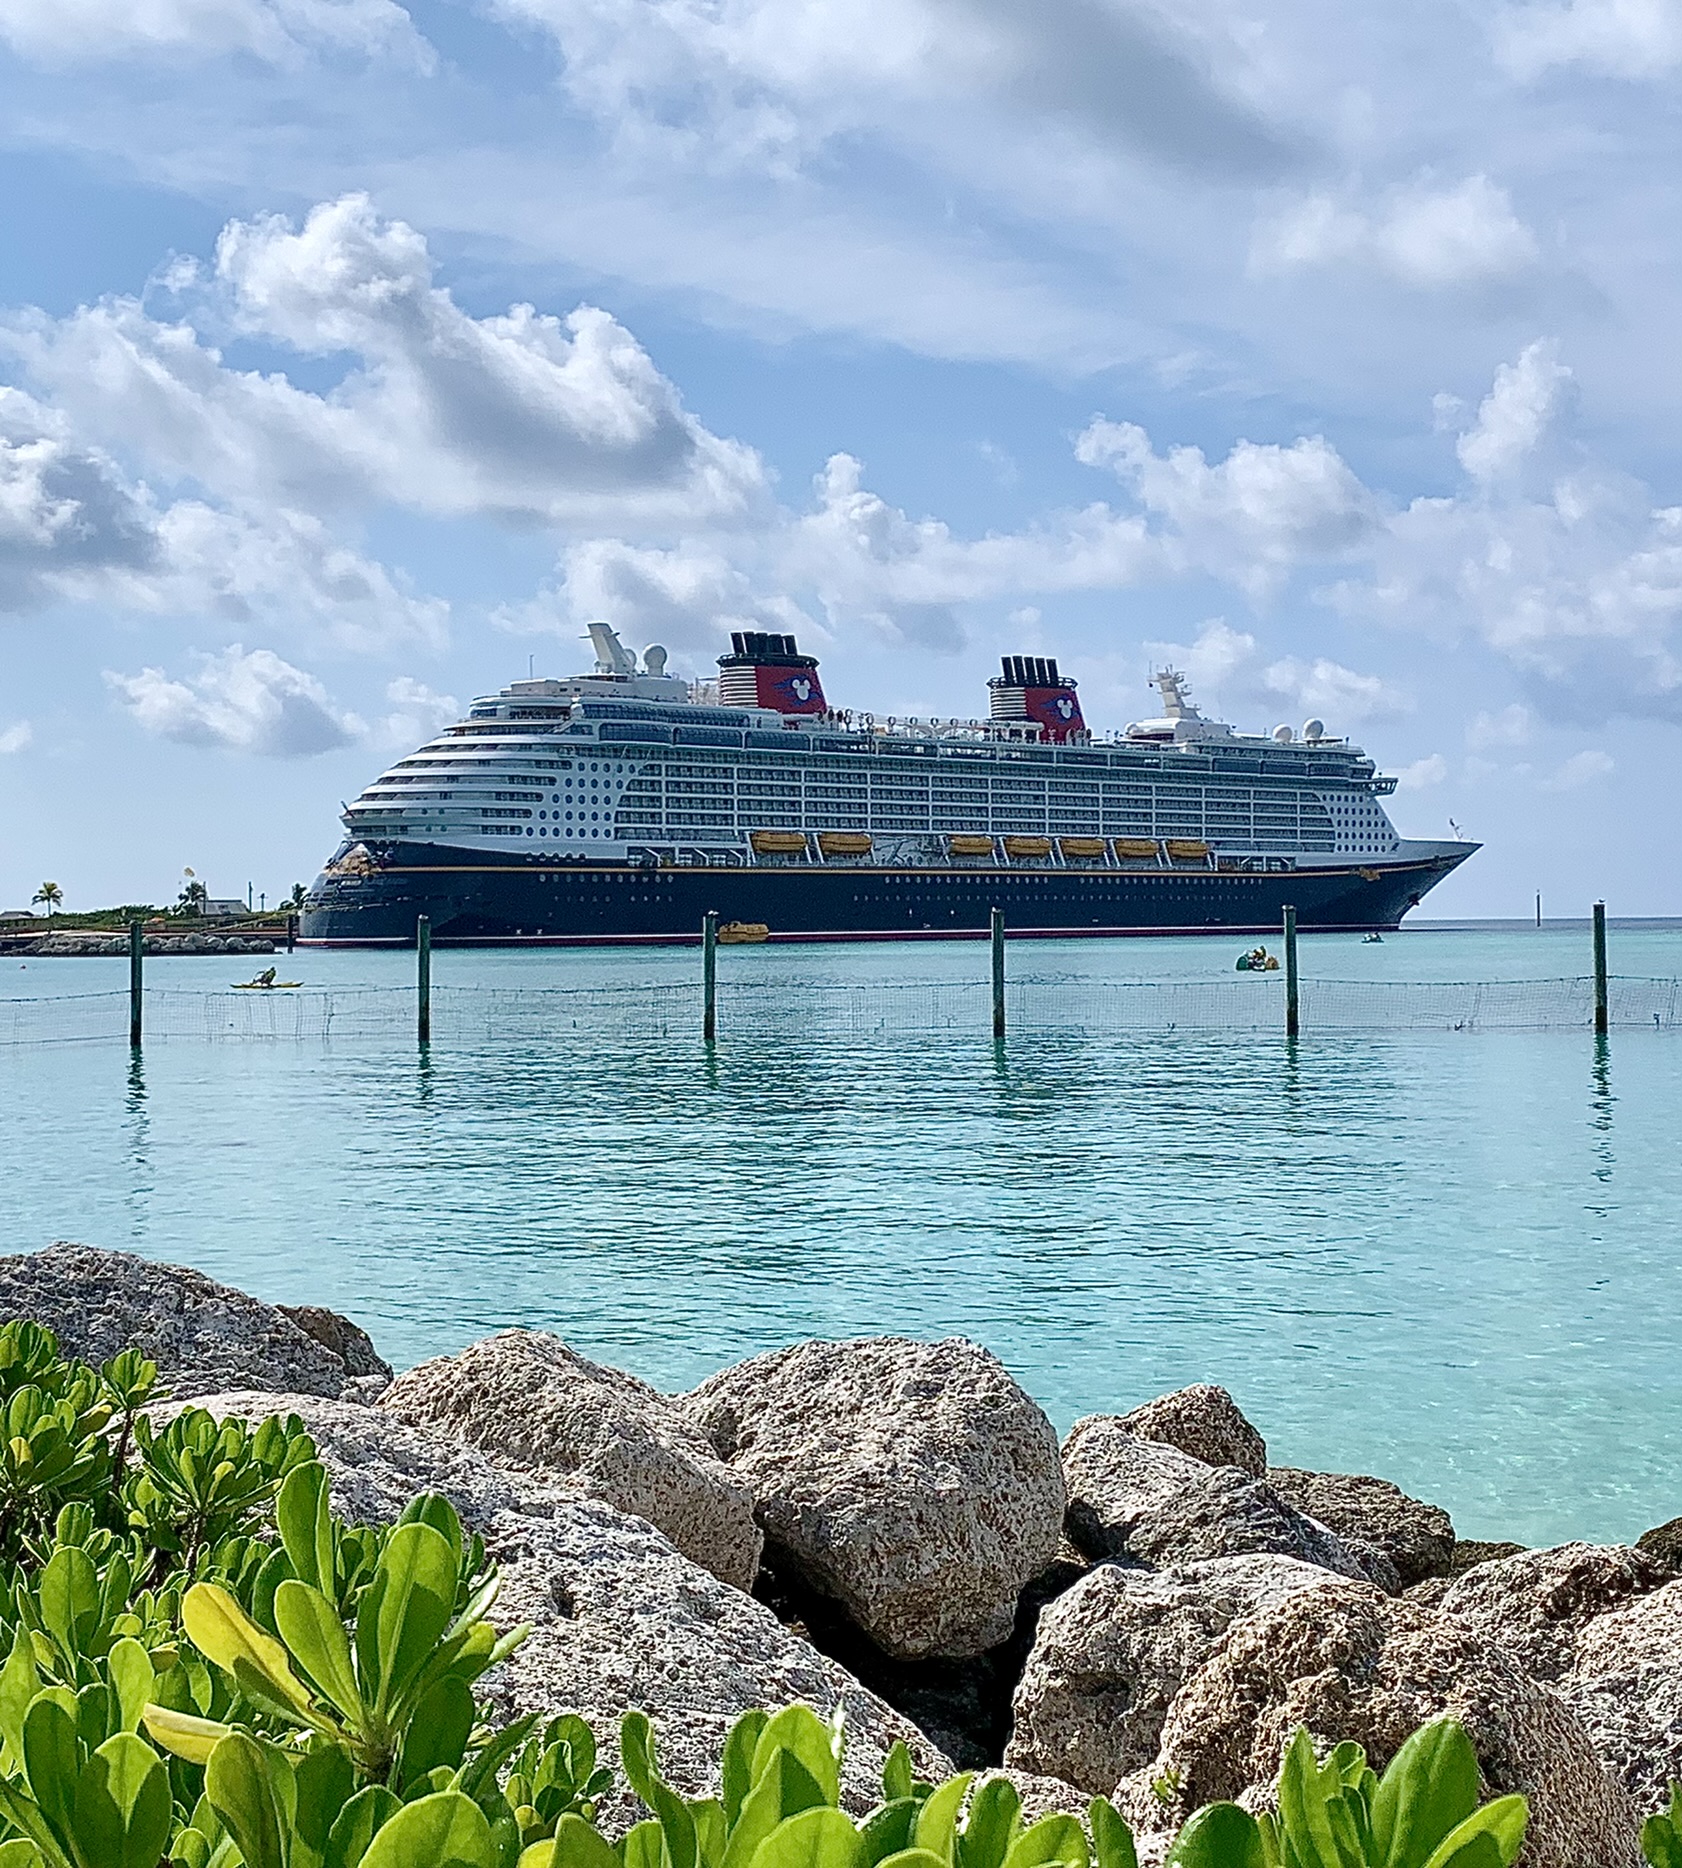
<svg viewBox="0 0 1682 1868">
<path fill-rule="evenodd" d="M 869 1801 L 1002 1769 L 1028 1808 L 1114 1795 L 1161 1859 L 1209 1801 L 1265 1799 L 1297 1724 L 1383 1765 L 1452 1713 L 1490 1793 L 1531 1799 L 1523 1861 L 1633 1868 L 1682 1776 L 1682 1535 L 1551 1550 L 1461 1541 L 1377 1478 L 1273 1466 L 1215 1386 L 1058 1442 L 987 1351 L 800 1343 L 665 1395 L 505 1330 L 394 1375 L 353 1323 L 84 1246 L 0 1259 L 0 1321 L 135 1345 L 168 1407 L 295 1412 L 342 1511 L 445 1493 L 531 1640 L 506 1715 L 647 1707 L 706 1793 L 751 1705 L 847 1707 Z"/>
</svg>

